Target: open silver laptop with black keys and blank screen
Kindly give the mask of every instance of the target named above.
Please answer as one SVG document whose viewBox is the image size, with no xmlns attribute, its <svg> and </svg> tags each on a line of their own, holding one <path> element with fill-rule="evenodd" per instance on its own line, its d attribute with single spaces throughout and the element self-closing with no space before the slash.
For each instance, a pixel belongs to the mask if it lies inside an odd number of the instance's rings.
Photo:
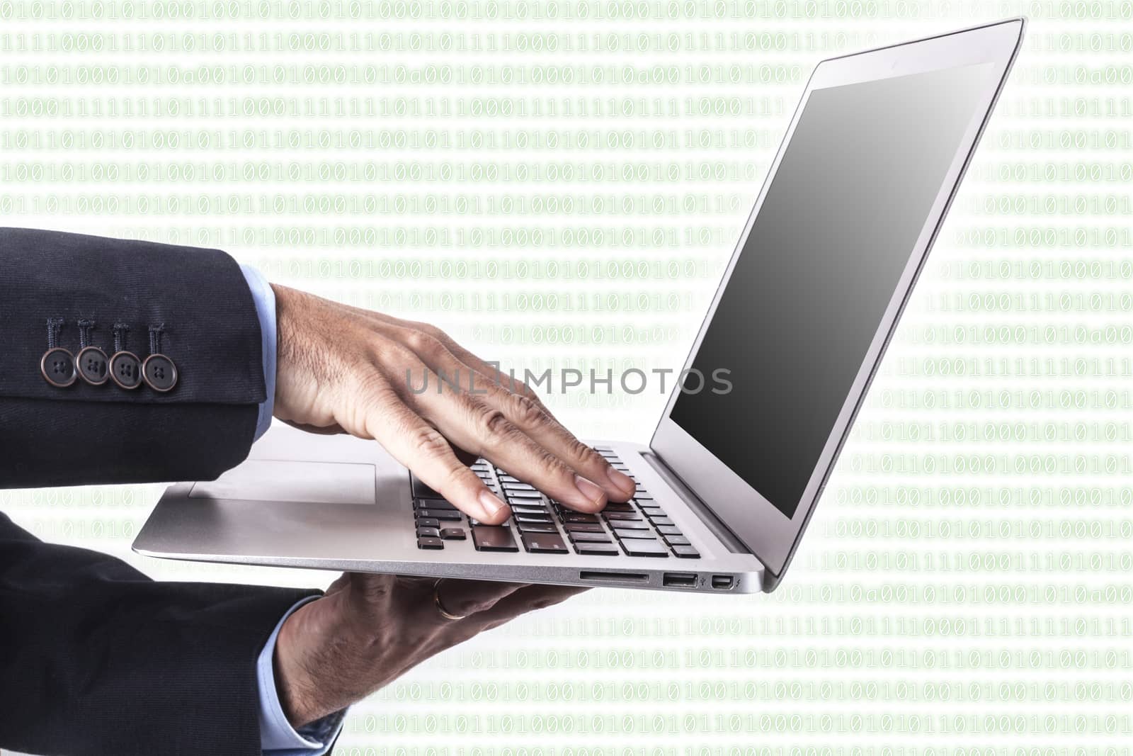
<svg viewBox="0 0 1133 756">
<path fill-rule="evenodd" d="M 219 479 L 171 486 L 134 549 L 437 578 L 773 591 L 1024 23 L 817 66 L 653 439 L 593 442 L 636 479 L 631 501 L 574 512 L 479 460 L 472 469 L 513 511 L 505 525 L 480 525 L 372 441 L 276 425 Z"/>
</svg>

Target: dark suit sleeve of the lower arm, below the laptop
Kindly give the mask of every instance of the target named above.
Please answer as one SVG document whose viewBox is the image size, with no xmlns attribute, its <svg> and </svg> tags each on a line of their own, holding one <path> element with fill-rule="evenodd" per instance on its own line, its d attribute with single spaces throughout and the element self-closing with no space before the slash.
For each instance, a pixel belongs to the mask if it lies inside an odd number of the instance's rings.
<svg viewBox="0 0 1133 756">
<path fill-rule="evenodd" d="M 258 756 L 256 657 L 314 593 L 155 583 L 0 513 L 0 748 Z"/>
</svg>

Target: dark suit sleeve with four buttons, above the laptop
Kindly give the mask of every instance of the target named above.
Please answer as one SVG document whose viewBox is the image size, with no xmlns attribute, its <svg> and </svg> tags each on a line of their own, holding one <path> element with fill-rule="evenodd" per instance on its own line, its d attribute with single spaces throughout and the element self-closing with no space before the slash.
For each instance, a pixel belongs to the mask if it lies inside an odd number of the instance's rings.
<svg viewBox="0 0 1133 756">
<path fill-rule="evenodd" d="M 117 330 L 145 359 L 156 330 L 178 383 L 51 385 L 49 321 L 73 355 L 79 321 L 108 356 Z M 215 478 L 252 445 L 262 350 L 252 292 L 223 252 L 0 229 L 0 489 Z"/>
</svg>

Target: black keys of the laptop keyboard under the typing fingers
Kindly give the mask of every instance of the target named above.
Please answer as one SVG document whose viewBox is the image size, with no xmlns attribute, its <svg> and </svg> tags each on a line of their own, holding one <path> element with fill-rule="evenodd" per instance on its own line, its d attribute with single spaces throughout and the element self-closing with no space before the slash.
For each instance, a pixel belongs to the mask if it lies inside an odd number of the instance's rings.
<svg viewBox="0 0 1133 756">
<path fill-rule="evenodd" d="M 613 450 L 595 449 L 633 477 Z M 477 551 L 488 552 L 522 549 L 533 554 L 700 558 L 645 489 L 638 487 L 625 503 L 608 503 L 597 515 L 588 515 L 563 507 L 484 459 L 472 465 L 472 472 L 511 506 L 511 518 L 503 525 L 482 525 L 411 476 L 418 549 L 444 549 L 445 543 L 470 537 Z"/>
</svg>

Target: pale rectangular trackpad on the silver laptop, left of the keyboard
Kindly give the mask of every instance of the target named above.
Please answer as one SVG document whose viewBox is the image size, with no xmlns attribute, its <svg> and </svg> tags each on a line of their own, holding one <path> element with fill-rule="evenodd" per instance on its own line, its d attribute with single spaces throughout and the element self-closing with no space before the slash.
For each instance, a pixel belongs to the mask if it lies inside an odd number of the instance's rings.
<svg viewBox="0 0 1133 756">
<path fill-rule="evenodd" d="M 375 475 L 361 462 L 249 459 L 215 481 L 195 483 L 189 499 L 373 504 Z"/>
</svg>

